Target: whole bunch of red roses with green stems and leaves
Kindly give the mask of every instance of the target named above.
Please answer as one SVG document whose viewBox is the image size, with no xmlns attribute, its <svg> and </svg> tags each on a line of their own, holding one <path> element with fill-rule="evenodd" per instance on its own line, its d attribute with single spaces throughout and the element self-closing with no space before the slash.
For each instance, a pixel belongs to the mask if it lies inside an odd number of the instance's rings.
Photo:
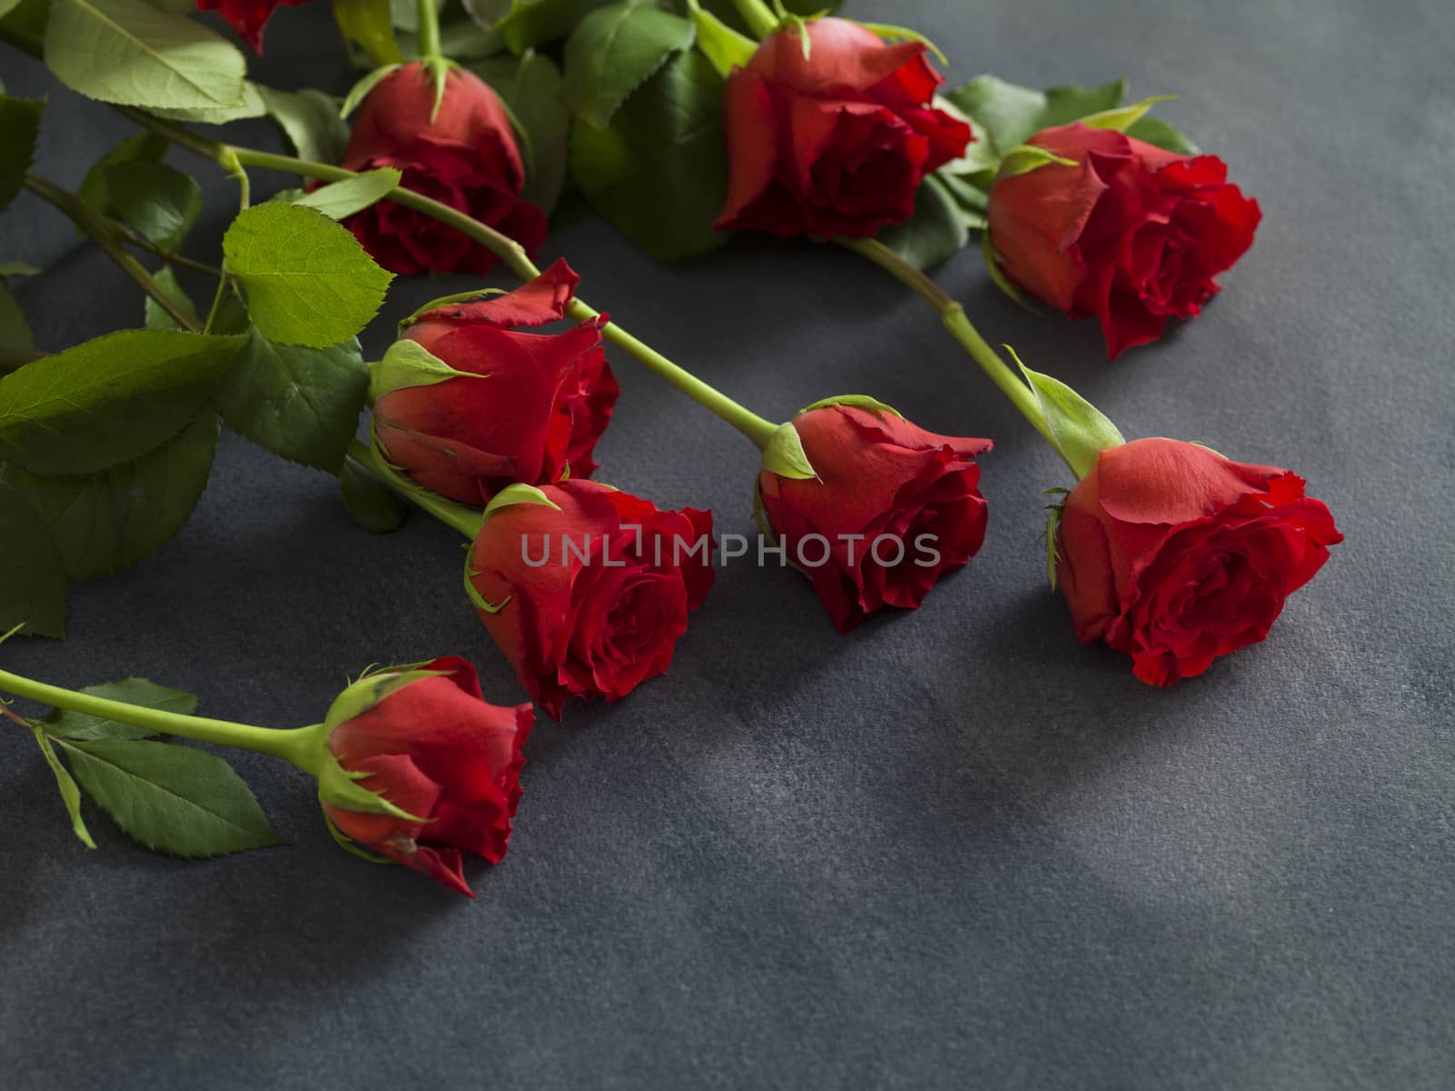
<svg viewBox="0 0 1455 1091">
<path fill-rule="evenodd" d="M 1094 317 L 1113 359 L 1196 317 L 1260 212 L 1222 160 L 1151 116 L 1161 99 L 992 76 L 947 90 L 931 63 L 944 58 L 915 29 L 762 0 L 469 0 L 444 17 L 434 0 L 407 15 L 340 1 L 339 48 L 359 80 L 282 90 L 247 77 L 265 25 L 287 25 L 276 0 L 198 6 L 246 48 L 146 0 L 0 0 L 4 47 L 44 61 L 58 93 L 135 125 L 70 192 L 33 161 L 45 102 L 0 97 L 0 209 L 20 191 L 41 198 L 141 304 L 137 329 L 38 348 L 0 279 L 10 636 L 63 637 L 71 583 L 175 537 L 226 425 L 336 474 L 367 531 L 413 508 L 464 535 L 464 605 L 546 713 L 621 700 L 669 669 L 714 556 L 751 547 L 710 512 L 595 480 L 620 396 L 608 348 L 757 447 L 758 557 L 802 573 L 840 633 L 920 607 L 973 559 L 989 439 L 927 431 L 869 394 L 786 422 L 739 404 L 588 305 L 566 260 L 534 263 L 567 188 L 661 260 L 735 233 L 802 237 L 920 295 L 1065 461 L 1072 480 L 1048 489 L 1051 583 L 1077 637 L 1126 653 L 1145 682 L 1263 640 L 1340 541 L 1295 473 L 1196 442 L 1128 442 L 1069 385 L 994 349 L 931 276 L 978 236 L 995 284 Z M 263 115 L 292 154 L 211 128 Z M 237 182 L 215 262 L 180 253 L 201 198 L 172 150 Z M 258 172 L 297 188 L 255 204 Z M 518 287 L 434 300 L 364 359 L 356 335 L 394 276 L 496 266 Z M 208 285 L 205 305 L 179 271 Z M 0 265 L 3 278 L 39 272 Z M 195 697 L 140 679 L 67 691 L 0 671 L 0 691 L 52 707 L 0 706 L 92 847 L 83 791 L 159 851 L 276 844 L 221 758 L 166 735 L 284 758 L 314 778 L 342 845 L 466 893 L 463 851 L 506 852 L 533 723 L 531 704 L 487 703 L 458 658 L 365 671 L 320 723 L 287 730 L 198 717 Z"/>
</svg>

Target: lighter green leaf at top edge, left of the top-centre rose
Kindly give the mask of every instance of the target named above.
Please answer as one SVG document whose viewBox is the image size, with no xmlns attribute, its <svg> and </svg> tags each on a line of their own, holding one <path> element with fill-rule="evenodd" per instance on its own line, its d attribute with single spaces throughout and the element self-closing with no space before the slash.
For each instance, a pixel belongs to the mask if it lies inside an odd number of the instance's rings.
<svg viewBox="0 0 1455 1091">
<path fill-rule="evenodd" d="M 650 0 L 623 0 L 588 15 L 566 41 L 566 105 L 604 128 L 666 58 L 690 49 L 697 28 Z"/>
</svg>

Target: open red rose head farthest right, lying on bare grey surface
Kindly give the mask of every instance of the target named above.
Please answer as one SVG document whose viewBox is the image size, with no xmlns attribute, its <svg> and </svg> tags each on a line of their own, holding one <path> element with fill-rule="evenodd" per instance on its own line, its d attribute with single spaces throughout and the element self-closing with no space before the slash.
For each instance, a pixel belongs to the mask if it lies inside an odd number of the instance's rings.
<svg viewBox="0 0 1455 1091">
<path fill-rule="evenodd" d="M 1136 439 L 1103 451 L 1067 497 L 1056 575 L 1084 643 L 1170 685 L 1263 640 L 1343 537 L 1298 474 Z"/>
</svg>

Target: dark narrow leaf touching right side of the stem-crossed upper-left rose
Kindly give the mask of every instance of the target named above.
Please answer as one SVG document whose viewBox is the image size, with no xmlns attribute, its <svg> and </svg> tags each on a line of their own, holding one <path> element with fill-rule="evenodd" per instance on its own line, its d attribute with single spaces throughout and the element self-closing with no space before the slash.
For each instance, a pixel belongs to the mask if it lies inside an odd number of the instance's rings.
<svg viewBox="0 0 1455 1091">
<path fill-rule="evenodd" d="M 470 67 L 509 108 L 527 160 L 521 196 L 549 215 L 566 182 L 566 135 L 570 131 L 560 70 L 550 57 L 534 49 L 525 49 L 518 58 L 493 57 Z"/>
</svg>

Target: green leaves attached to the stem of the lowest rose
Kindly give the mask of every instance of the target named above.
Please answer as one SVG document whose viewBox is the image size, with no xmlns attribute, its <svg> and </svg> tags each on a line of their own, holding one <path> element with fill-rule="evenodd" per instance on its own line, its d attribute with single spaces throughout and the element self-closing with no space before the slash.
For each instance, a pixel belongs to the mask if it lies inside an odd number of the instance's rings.
<svg viewBox="0 0 1455 1091">
<path fill-rule="evenodd" d="M 143 678 L 80 692 L 182 716 L 196 711 L 192 694 Z M 60 708 L 26 724 L 55 775 L 71 829 L 89 848 L 96 841 L 81 813 L 83 791 L 127 836 L 156 852 L 205 858 L 282 844 L 253 793 L 221 758 L 160 742 L 141 727 Z"/>
</svg>

